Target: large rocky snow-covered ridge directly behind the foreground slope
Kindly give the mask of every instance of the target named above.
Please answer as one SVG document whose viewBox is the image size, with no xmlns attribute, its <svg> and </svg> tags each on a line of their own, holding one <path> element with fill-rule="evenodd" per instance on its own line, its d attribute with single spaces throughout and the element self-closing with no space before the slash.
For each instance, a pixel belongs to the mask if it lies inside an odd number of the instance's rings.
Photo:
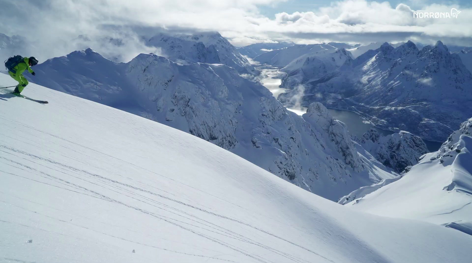
<svg viewBox="0 0 472 263">
<path fill-rule="evenodd" d="M 149 54 L 116 64 L 87 49 L 35 72 L 35 83 L 188 132 L 331 200 L 394 176 L 355 148 L 347 162 L 342 142 L 323 138 L 328 126 L 307 123 L 228 66 L 179 65 Z"/>
</svg>

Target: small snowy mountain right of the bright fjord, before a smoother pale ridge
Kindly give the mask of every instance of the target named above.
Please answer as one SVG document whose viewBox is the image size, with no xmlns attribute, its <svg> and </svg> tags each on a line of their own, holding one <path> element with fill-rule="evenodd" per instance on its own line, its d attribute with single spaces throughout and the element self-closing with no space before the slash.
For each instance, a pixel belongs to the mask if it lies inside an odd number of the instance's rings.
<svg viewBox="0 0 472 263">
<path fill-rule="evenodd" d="M 304 82 L 316 81 L 337 70 L 346 60 L 352 60 L 350 52 L 346 49 L 337 49 L 332 53 L 318 51 L 302 55 L 280 69 L 287 73 L 283 77 L 283 87 L 290 88 Z"/>
</svg>

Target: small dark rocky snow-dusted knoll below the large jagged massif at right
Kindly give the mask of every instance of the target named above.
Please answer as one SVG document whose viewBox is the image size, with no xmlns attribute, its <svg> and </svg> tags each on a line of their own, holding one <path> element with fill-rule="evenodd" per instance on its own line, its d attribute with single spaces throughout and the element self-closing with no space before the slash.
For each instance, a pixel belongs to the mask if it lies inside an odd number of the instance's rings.
<svg viewBox="0 0 472 263">
<path fill-rule="evenodd" d="M 405 131 L 382 136 L 375 129 L 364 133 L 359 143 L 379 162 L 401 173 L 407 166 L 418 163 L 428 148 L 420 137 Z"/>
</svg>

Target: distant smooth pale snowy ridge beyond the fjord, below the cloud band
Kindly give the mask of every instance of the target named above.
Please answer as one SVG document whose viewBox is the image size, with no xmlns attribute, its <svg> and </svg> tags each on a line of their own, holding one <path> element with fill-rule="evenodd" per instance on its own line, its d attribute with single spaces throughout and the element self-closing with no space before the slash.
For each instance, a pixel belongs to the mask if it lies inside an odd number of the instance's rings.
<svg viewBox="0 0 472 263">
<path fill-rule="evenodd" d="M 312 44 L 312 45 L 295 45 L 285 49 L 272 50 L 263 53 L 254 58 L 255 61 L 261 64 L 268 64 L 276 67 L 285 67 L 294 59 L 300 58 L 303 55 L 310 53 L 332 53 L 337 49 L 346 49 L 350 47 L 344 43 L 330 42 L 327 44 Z"/>
</svg>

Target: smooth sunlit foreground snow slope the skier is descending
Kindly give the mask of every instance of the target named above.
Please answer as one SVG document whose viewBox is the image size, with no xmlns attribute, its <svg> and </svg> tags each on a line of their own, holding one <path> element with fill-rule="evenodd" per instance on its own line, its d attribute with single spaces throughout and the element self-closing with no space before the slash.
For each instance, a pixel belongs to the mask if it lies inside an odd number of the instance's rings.
<svg viewBox="0 0 472 263">
<path fill-rule="evenodd" d="M 25 93 L 50 103 L 0 94 L 1 262 L 470 259 L 457 230 L 356 212 L 160 123 L 35 84 Z"/>
</svg>

